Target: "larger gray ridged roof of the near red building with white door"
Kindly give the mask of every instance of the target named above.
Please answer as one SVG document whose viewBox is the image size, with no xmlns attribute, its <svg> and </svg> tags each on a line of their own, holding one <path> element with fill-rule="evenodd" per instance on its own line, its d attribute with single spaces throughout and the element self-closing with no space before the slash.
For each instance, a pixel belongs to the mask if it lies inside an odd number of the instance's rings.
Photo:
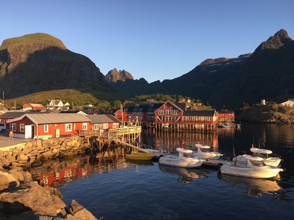
<svg viewBox="0 0 294 220">
<path fill-rule="evenodd" d="M 55 123 L 75 123 L 75 122 L 88 122 L 82 114 L 28 114 L 29 119 L 36 124 L 55 124 Z"/>
</svg>

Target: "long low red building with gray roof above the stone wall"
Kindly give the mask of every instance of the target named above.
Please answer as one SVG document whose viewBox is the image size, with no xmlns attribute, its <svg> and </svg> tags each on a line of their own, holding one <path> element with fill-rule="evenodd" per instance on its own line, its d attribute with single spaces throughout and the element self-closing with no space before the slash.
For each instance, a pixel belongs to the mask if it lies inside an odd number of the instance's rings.
<svg viewBox="0 0 294 220">
<path fill-rule="evenodd" d="M 90 119 L 90 116 L 83 114 L 24 114 L 6 123 L 9 123 L 14 137 L 57 138 L 69 137 L 75 131 L 90 130 L 92 127 L 106 130 L 113 127 L 114 123 L 119 126 L 117 121 L 105 115 L 91 115 Z"/>
</svg>

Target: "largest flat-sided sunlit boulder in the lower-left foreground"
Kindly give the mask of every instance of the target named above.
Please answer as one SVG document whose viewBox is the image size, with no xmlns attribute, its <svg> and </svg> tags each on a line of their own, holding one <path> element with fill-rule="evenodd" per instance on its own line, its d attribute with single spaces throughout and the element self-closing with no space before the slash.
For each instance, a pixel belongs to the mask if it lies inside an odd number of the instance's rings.
<svg viewBox="0 0 294 220">
<path fill-rule="evenodd" d="M 6 213 L 20 214 L 24 211 L 42 211 L 57 214 L 66 207 L 51 190 L 38 183 L 28 182 L 19 187 L 6 189 L 0 193 L 0 201 Z"/>
</svg>

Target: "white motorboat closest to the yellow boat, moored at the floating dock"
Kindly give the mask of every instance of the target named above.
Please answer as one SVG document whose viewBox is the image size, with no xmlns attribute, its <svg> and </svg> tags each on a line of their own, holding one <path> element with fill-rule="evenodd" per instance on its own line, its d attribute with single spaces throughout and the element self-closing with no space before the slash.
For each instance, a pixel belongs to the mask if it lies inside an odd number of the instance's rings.
<svg viewBox="0 0 294 220">
<path fill-rule="evenodd" d="M 195 157 L 192 150 L 177 148 L 176 151 L 179 152 L 179 155 L 161 157 L 158 163 L 173 167 L 200 168 L 202 163 L 205 162 L 204 159 Z"/>
</svg>

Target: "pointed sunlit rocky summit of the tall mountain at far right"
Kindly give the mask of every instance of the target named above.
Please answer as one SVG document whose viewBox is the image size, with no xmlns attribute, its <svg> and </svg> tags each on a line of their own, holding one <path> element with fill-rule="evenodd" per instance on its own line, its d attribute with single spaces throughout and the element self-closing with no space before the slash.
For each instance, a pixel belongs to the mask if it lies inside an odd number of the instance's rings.
<svg viewBox="0 0 294 220">
<path fill-rule="evenodd" d="M 292 39 L 289 37 L 287 31 L 284 29 L 281 29 L 275 35 L 271 36 L 268 38 L 267 41 L 262 42 L 258 48 L 256 48 L 255 51 L 257 50 L 266 50 L 266 49 L 279 49 L 281 46 L 285 45 Z"/>
</svg>

